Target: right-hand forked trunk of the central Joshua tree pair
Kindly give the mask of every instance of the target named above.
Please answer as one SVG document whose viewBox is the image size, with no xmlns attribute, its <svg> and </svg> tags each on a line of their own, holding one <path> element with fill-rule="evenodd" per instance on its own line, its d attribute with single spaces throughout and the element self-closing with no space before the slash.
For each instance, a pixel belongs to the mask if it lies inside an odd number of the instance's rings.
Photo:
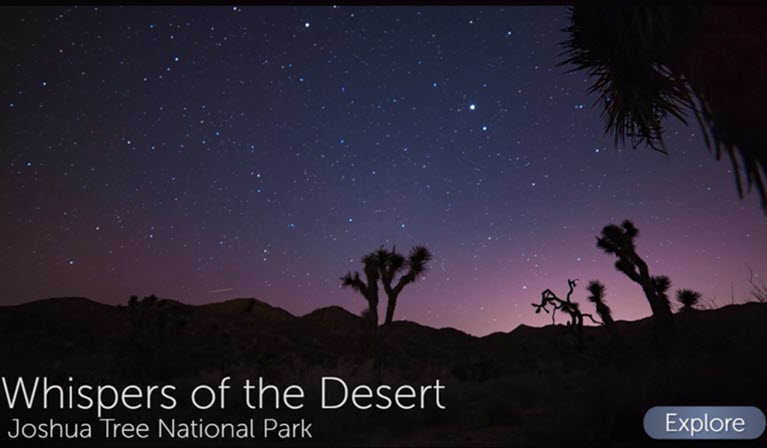
<svg viewBox="0 0 767 448">
<path fill-rule="evenodd" d="M 415 246 L 410 249 L 407 258 L 397 252 L 396 247 L 386 250 L 383 247 L 377 252 L 380 263 L 381 283 L 386 292 L 386 324 L 394 320 L 394 309 L 397 307 L 397 298 L 405 286 L 416 282 L 427 269 L 427 264 L 432 258 L 431 252 L 426 246 Z M 399 275 L 399 279 L 395 278 Z"/>
</svg>

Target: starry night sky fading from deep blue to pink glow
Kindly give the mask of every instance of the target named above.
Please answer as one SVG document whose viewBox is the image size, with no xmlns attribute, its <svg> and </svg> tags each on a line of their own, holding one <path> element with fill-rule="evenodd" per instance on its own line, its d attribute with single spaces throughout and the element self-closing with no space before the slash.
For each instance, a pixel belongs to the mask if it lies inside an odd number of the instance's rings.
<svg viewBox="0 0 767 448">
<path fill-rule="evenodd" d="M 632 219 L 674 288 L 718 305 L 767 275 L 767 224 L 697 127 L 616 149 L 559 7 L 4 8 L 0 303 L 256 297 L 295 314 L 381 244 L 435 258 L 397 318 L 473 334 L 601 279 Z"/>
</svg>

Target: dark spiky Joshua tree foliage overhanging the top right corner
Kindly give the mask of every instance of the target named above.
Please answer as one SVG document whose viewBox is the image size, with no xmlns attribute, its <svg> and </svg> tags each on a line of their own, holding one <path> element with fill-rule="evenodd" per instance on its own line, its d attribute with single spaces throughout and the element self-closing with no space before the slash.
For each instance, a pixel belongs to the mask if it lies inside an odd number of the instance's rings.
<svg viewBox="0 0 767 448">
<path fill-rule="evenodd" d="M 666 152 L 663 120 L 694 115 L 716 158 L 730 159 L 738 194 L 755 186 L 767 212 L 766 19 L 744 5 L 579 4 L 560 65 L 593 79 L 616 145 Z"/>
</svg>

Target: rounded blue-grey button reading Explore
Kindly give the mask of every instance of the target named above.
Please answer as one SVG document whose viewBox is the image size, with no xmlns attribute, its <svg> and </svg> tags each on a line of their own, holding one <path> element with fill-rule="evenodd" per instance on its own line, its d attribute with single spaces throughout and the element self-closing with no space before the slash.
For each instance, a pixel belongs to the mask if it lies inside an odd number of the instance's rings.
<svg viewBox="0 0 767 448">
<path fill-rule="evenodd" d="M 653 439 L 752 440 L 764 426 L 764 414 L 754 406 L 655 406 L 644 416 Z"/>
</svg>

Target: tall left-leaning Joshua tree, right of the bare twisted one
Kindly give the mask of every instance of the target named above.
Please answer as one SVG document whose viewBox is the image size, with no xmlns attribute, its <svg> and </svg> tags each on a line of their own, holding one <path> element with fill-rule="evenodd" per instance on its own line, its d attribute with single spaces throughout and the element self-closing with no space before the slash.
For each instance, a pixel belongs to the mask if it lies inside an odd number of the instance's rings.
<svg viewBox="0 0 767 448">
<path fill-rule="evenodd" d="M 610 224 L 597 237 L 597 247 L 618 257 L 615 268 L 642 287 L 653 316 L 660 322 L 670 324 L 671 306 L 666 293 L 671 281 L 668 277 L 650 275 L 647 263 L 636 253 L 634 241 L 638 236 L 639 229 L 631 221 L 623 221 L 620 226 Z"/>
</svg>

